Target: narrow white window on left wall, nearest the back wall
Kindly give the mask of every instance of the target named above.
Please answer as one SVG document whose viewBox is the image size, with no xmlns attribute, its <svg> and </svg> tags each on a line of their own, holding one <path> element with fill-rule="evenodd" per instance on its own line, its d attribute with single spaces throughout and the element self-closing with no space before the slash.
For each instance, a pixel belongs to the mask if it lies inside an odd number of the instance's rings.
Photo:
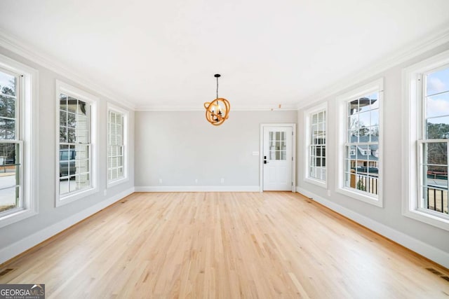
<svg viewBox="0 0 449 299">
<path fill-rule="evenodd" d="M 128 112 L 110 104 L 108 106 L 107 182 L 108 186 L 112 186 L 127 178 Z"/>
</svg>

